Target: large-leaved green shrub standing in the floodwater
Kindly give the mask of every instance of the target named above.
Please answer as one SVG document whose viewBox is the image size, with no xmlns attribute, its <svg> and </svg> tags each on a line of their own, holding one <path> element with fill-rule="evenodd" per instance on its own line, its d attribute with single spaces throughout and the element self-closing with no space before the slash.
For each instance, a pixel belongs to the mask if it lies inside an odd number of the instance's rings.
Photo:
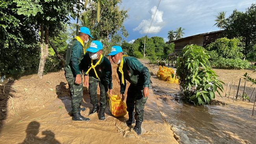
<svg viewBox="0 0 256 144">
<path fill-rule="evenodd" d="M 215 92 L 220 95 L 219 91 L 223 90 L 223 82 L 217 79 L 216 73 L 210 68 L 209 58 L 204 48 L 187 45 L 177 63 L 176 75 L 180 79 L 184 99 L 195 105 L 210 104 Z"/>
</svg>

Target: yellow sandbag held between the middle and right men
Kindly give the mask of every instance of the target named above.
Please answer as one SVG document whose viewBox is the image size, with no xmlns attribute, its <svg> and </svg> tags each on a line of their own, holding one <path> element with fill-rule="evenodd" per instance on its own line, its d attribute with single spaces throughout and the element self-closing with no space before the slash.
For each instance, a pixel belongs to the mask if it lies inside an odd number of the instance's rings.
<svg viewBox="0 0 256 144">
<path fill-rule="evenodd" d="M 127 106 L 126 103 L 123 102 L 118 95 L 109 95 L 109 106 L 110 112 L 114 117 L 123 117 L 127 113 Z"/>
</svg>

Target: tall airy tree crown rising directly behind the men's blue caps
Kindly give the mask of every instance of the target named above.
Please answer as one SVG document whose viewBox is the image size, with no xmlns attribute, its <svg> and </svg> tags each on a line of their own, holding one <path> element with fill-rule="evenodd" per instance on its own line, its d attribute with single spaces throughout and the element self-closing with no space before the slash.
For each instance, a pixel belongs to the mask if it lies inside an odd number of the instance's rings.
<svg viewBox="0 0 256 144">
<path fill-rule="evenodd" d="M 121 2 L 121 0 L 103 2 L 100 6 L 100 22 L 96 22 L 97 3 L 89 1 L 91 6 L 82 13 L 80 19 L 82 26 L 89 27 L 95 40 L 102 40 L 106 53 L 110 51 L 111 46 L 121 45 L 122 37 L 128 36 L 123 26 L 128 11 L 119 7 Z"/>
</svg>

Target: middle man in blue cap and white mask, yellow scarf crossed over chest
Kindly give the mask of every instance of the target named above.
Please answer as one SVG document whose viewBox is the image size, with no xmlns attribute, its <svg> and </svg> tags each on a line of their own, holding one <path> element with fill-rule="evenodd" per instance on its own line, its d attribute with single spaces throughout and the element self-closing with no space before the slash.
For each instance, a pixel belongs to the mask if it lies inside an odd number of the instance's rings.
<svg viewBox="0 0 256 144">
<path fill-rule="evenodd" d="M 105 119 L 105 108 L 107 106 L 106 93 L 112 95 L 112 69 L 107 57 L 102 55 L 102 44 L 98 40 L 91 42 L 86 49 L 87 53 L 82 60 L 84 85 L 89 85 L 89 95 L 93 109 L 89 114 L 96 113 L 99 109 L 97 100 L 97 87 L 100 86 L 100 112 L 99 119 Z M 88 80 L 89 74 L 89 80 Z"/>
</svg>

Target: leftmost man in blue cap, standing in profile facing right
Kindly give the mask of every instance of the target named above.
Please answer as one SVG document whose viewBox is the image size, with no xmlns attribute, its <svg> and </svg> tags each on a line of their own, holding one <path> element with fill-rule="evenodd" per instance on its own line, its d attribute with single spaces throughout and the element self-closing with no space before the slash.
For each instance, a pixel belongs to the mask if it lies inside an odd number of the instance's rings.
<svg viewBox="0 0 256 144">
<path fill-rule="evenodd" d="M 80 71 L 80 63 L 83 59 L 85 49 L 84 43 L 89 41 L 90 31 L 87 27 L 81 27 L 76 36 L 67 46 L 65 60 L 65 77 L 69 84 L 71 104 L 72 104 L 72 120 L 90 120 L 80 114 L 80 106 L 83 97 L 82 72 Z"/>
</svg>

